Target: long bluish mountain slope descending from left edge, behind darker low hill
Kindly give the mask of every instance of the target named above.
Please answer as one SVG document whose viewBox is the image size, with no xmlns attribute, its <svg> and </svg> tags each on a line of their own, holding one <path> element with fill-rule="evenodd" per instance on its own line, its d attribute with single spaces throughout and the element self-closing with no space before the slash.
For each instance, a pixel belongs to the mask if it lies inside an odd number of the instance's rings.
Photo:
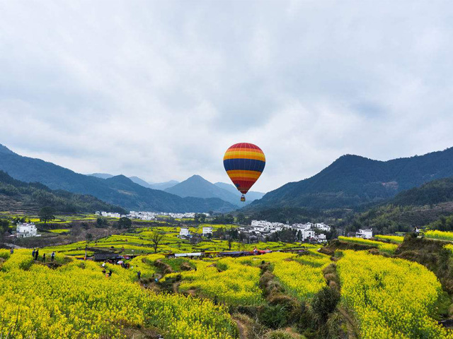
<svg viewBox="0 0 453 339">
<path fill-rule="evenodd" d="M 219 198 L 180 198 L 156 189 L 135 184 L 118 175 L 108 179 L 79 174 L 70 169 L 40 159 L 23 157 L 0 145 L 0 170 L 23 182 L 40 182 L 50 189 L 90 194 L 127 210 L 159 212 L 227 212 L 234 210 L 231 203 Z"/>
</svg>

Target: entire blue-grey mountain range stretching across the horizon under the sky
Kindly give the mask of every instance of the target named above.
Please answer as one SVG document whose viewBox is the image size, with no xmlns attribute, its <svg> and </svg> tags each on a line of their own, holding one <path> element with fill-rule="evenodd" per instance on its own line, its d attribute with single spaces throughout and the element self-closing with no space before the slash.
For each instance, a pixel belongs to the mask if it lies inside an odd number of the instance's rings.
<svg viewBox="0 0 453 339">
<path fill-rule="evenodd" d="M 240 193 L 233 185 L 212 184 L 198 175 L 180 183 L 159 184 L 123 175 L 84 175 L 51 162 L 17 155 L 3 145 L 0 145 L 0 170 L 23 182 L 40 182 L 54 190 L 89 194 L 129 210 L 229 212 L 243 206 L 239 203 Z M 452 182 L 446 180 L 436 184 L 433 181 L 448 177 L 453 177 L 453 148 L 388 161 L 343 155 L 313 177 L 285 184 L 263 198 L 259 192 L 248 192 L 247 200 L 252 202 L 244 207 L 244 211 L 272 208 L 329 210 L 384 202 L 445 201 L 453 196 L 450 193 Z M 426 184 L 428 182 L 432 184 Z M 423 184 L 425 186 L 420 188 Z M 152 185 L 160 185 L 161 189 L 152 189 L 155 187 Z M 254 198 L 258 200 L 253 201 Z"/>
</svg>

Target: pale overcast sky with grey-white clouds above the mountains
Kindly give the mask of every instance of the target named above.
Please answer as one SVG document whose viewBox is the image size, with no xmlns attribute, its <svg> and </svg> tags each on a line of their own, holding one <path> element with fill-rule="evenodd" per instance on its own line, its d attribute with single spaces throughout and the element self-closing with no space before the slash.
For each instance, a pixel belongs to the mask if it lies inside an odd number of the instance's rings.
<svg viewBox="0 0 453 339">
<path fill-rule="evenodd" d="M 0 143 L 76 172 L 253 190 L 453 146 L 452 1 L 0 0 Z"/>
</svg>

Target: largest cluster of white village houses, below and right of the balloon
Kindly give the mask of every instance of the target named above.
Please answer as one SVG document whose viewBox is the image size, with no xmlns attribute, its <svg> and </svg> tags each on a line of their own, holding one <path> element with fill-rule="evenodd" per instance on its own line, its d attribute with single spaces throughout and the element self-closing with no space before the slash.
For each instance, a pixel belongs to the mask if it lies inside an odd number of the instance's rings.
<svg viewBox="0 0 453 339">
<path fill-rule="evenodd" d="M 321 223 L 312 223 L 312 222 L 306 222 L 305 224 L 283 224 L 282 222 L 269 222 L 266 220 L 252 220 L 251 226 L 250 227 L 240 227 L 239 230 L 242 232 L 254 232 L 257 235 L 267 235 L 267 234 L 272 234 L 274 232 L 280 232 L 284 229 L 292 229 L 296 230 L 298 237 L 300 237 L 300 240 L 302 242 L 305 242 L 307 240 L 314 240 L 317 242 L 326 242 L 326 234 L 325 233 L 319 233 L 316 234 L 315 230 L 323 231 L 323 232 L 330 232 L 331 227 L 329 225 L 324 224 L 323 222 Z"/>
</svg>

